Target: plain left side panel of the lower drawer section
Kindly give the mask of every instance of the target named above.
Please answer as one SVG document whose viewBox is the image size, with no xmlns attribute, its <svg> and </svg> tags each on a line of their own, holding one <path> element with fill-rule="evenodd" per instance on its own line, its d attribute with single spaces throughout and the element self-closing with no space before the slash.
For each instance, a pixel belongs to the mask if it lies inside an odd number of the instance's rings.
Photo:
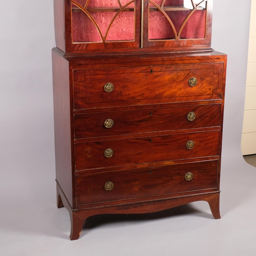
<svg viewBox="0 0 256 256">
<path fill-rule="evenodd" d="M 52 51 L 56 179 L 72 205 L 69 62 Z"/>
</svg>

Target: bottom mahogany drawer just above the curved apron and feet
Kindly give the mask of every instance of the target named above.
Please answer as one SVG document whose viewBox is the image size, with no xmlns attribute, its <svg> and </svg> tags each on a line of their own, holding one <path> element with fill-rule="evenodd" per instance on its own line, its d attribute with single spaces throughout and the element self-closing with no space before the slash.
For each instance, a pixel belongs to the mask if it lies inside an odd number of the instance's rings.
<svg viewBox="0 0 256 256">
<path fill-rule="evenodd" d="M 192 176 L 185 175 L 187 173 Z M 217 189 L 218 160 L 76 176 L 76 204 Z M 109 189 L 109 190 L 106 190 Z"/>
</svg>

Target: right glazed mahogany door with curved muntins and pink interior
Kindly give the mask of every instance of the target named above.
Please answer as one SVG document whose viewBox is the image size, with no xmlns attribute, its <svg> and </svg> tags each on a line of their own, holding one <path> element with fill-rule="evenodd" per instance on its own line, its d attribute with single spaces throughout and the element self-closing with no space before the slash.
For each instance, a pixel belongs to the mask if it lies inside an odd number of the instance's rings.
<svg viewBox="0 0 256 256">
<path fill-rule="evenodd" d="M 143 47 L 210 46 L 212 0 L 144 0 Z"/>
</svg>

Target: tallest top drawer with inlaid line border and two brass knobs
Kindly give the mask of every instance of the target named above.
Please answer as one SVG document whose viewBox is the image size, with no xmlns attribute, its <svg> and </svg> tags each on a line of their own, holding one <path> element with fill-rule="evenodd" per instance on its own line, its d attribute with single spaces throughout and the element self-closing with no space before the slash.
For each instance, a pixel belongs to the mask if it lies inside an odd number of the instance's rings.
<svg viewBox="0 0 256 256">
<path fill-rule="evenodd" d="M 74 71 L 74 108 L 221 99 L 222 78 L 223 63 Z"/>
</svg>

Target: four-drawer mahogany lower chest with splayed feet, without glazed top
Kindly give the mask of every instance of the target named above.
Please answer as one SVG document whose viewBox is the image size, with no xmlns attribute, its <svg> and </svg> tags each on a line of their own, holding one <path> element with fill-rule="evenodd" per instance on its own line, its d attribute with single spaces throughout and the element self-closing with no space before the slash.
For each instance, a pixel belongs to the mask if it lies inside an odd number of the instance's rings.
<svg viewBox="0 0 256 256">
<path fill-rule="evenodd" d="M 226 55 L 53 49 L 58 207 L 97 214 L 207 201 L 218 219 Z"/>
</svg>

